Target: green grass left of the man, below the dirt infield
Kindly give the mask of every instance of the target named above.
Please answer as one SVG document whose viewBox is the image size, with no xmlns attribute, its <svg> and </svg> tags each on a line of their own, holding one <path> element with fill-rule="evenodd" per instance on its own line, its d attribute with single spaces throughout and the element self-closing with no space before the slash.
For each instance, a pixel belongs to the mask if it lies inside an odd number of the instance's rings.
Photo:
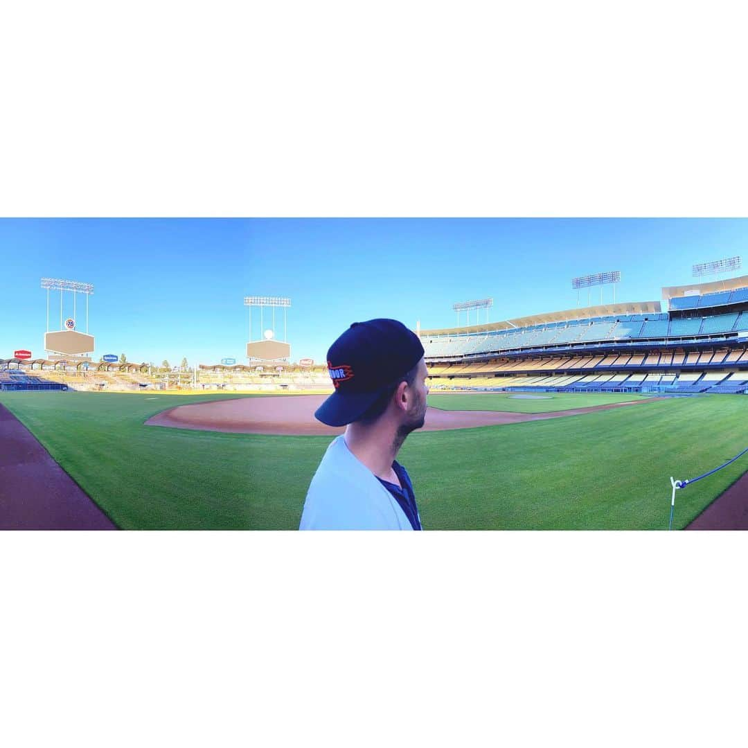
<svg viewBox="0 0 748 748">
<path fill-rule="evenodd" d="M 301 438 L 144 426 L 165 408 L 236 397 L 3 392 L 0 402 L 119 527 L 298 527 L 301 489 L 286 488 L 308 483 L 324 439 L 298 460 Z"/>
</svg>

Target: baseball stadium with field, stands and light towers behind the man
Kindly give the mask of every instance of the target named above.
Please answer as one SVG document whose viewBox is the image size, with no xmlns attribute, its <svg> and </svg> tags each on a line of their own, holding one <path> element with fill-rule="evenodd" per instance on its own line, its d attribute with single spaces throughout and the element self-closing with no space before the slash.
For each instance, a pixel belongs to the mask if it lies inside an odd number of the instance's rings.
<svg viewBox="0 0 748 748">
<path fill-rule="evenodd" d="M 574 279 L 577 298 L 617 281 Z M 292 360 L 289 298 L 245 298 L 272 315 L 256 335 L 250 322 L 247 363 L 157 367 L 96 361 L 93 286 L 41 287 L 45 355 L 0 358 L 1 528 L 298 528 L 343 429 L 313 417 L 333 388 L 326 362 Z M 50 323 L 50 292 L 85 295 L 85 332 L 62 301 Z M 424 528 L 748 527 L 747 275 L 499 322 L 492 305 L 460 302 L 453 327 L 414 327 L 429 408 L 400 456 Z"/>
</svg>

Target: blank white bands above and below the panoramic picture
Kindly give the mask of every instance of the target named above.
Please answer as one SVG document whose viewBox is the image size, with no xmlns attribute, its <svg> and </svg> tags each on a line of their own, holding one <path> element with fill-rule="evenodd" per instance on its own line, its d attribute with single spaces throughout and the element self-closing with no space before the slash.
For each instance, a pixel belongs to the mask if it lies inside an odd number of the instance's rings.
<svg viewBox="0 0 748 748">
<path fill-rule="evenodd" d="M 740 9 L 15 4 L 0 210 L 741 215 Z M 2 533 L 0 739 L 736 744 L 744 547 Z"/>
</svg>

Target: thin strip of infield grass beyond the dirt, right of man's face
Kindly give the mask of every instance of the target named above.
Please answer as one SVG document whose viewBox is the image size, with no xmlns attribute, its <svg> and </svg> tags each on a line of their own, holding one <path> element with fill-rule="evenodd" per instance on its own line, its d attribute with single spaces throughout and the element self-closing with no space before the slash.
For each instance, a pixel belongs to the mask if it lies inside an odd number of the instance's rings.
<svg viewBox="0 0 748 748">
<path fill-rule="evenodd" d="M 508 411 L 511 413 L 554 413 L 572 408 L 590 408 L 592 405 L 610 405 L 613 402 L 631 402 L 647 395 L 619 393 L 535 393 L 542 400 L 522 399 L 529 392 L 476 392 L 430 393 L 429 405 L 444 411 Z"/>
</svg>

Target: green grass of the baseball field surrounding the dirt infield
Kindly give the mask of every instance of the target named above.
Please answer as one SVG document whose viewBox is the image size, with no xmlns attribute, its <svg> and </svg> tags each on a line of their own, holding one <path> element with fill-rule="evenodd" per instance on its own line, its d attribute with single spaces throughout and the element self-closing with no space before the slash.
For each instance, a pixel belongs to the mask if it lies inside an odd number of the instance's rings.
<svg viewBox="0 0 748 748">
<path fill-rule="evenodd" d="M 225 397 L 3 392 L 0 402 L 120 527 L 295 529 L 328 437 L 143 425 L 164 408 Z M 434 396 L 441 397 L 470 408 L 480 396 Z M 499 410 L 506 402 L 545 409 L 560 403 L 488 397 Z M 592 404 L 586 395 L 563 397 L 567 407 Z M 398 459 L 429 530 L 664 529 L 669 476 L 699 475 L 747 446 L 748 397 L 711 395 L 415 432 Z M 747 469 L 748 456 L 678 491 L 675 526 L 688 524 Z"/>
</svg>

